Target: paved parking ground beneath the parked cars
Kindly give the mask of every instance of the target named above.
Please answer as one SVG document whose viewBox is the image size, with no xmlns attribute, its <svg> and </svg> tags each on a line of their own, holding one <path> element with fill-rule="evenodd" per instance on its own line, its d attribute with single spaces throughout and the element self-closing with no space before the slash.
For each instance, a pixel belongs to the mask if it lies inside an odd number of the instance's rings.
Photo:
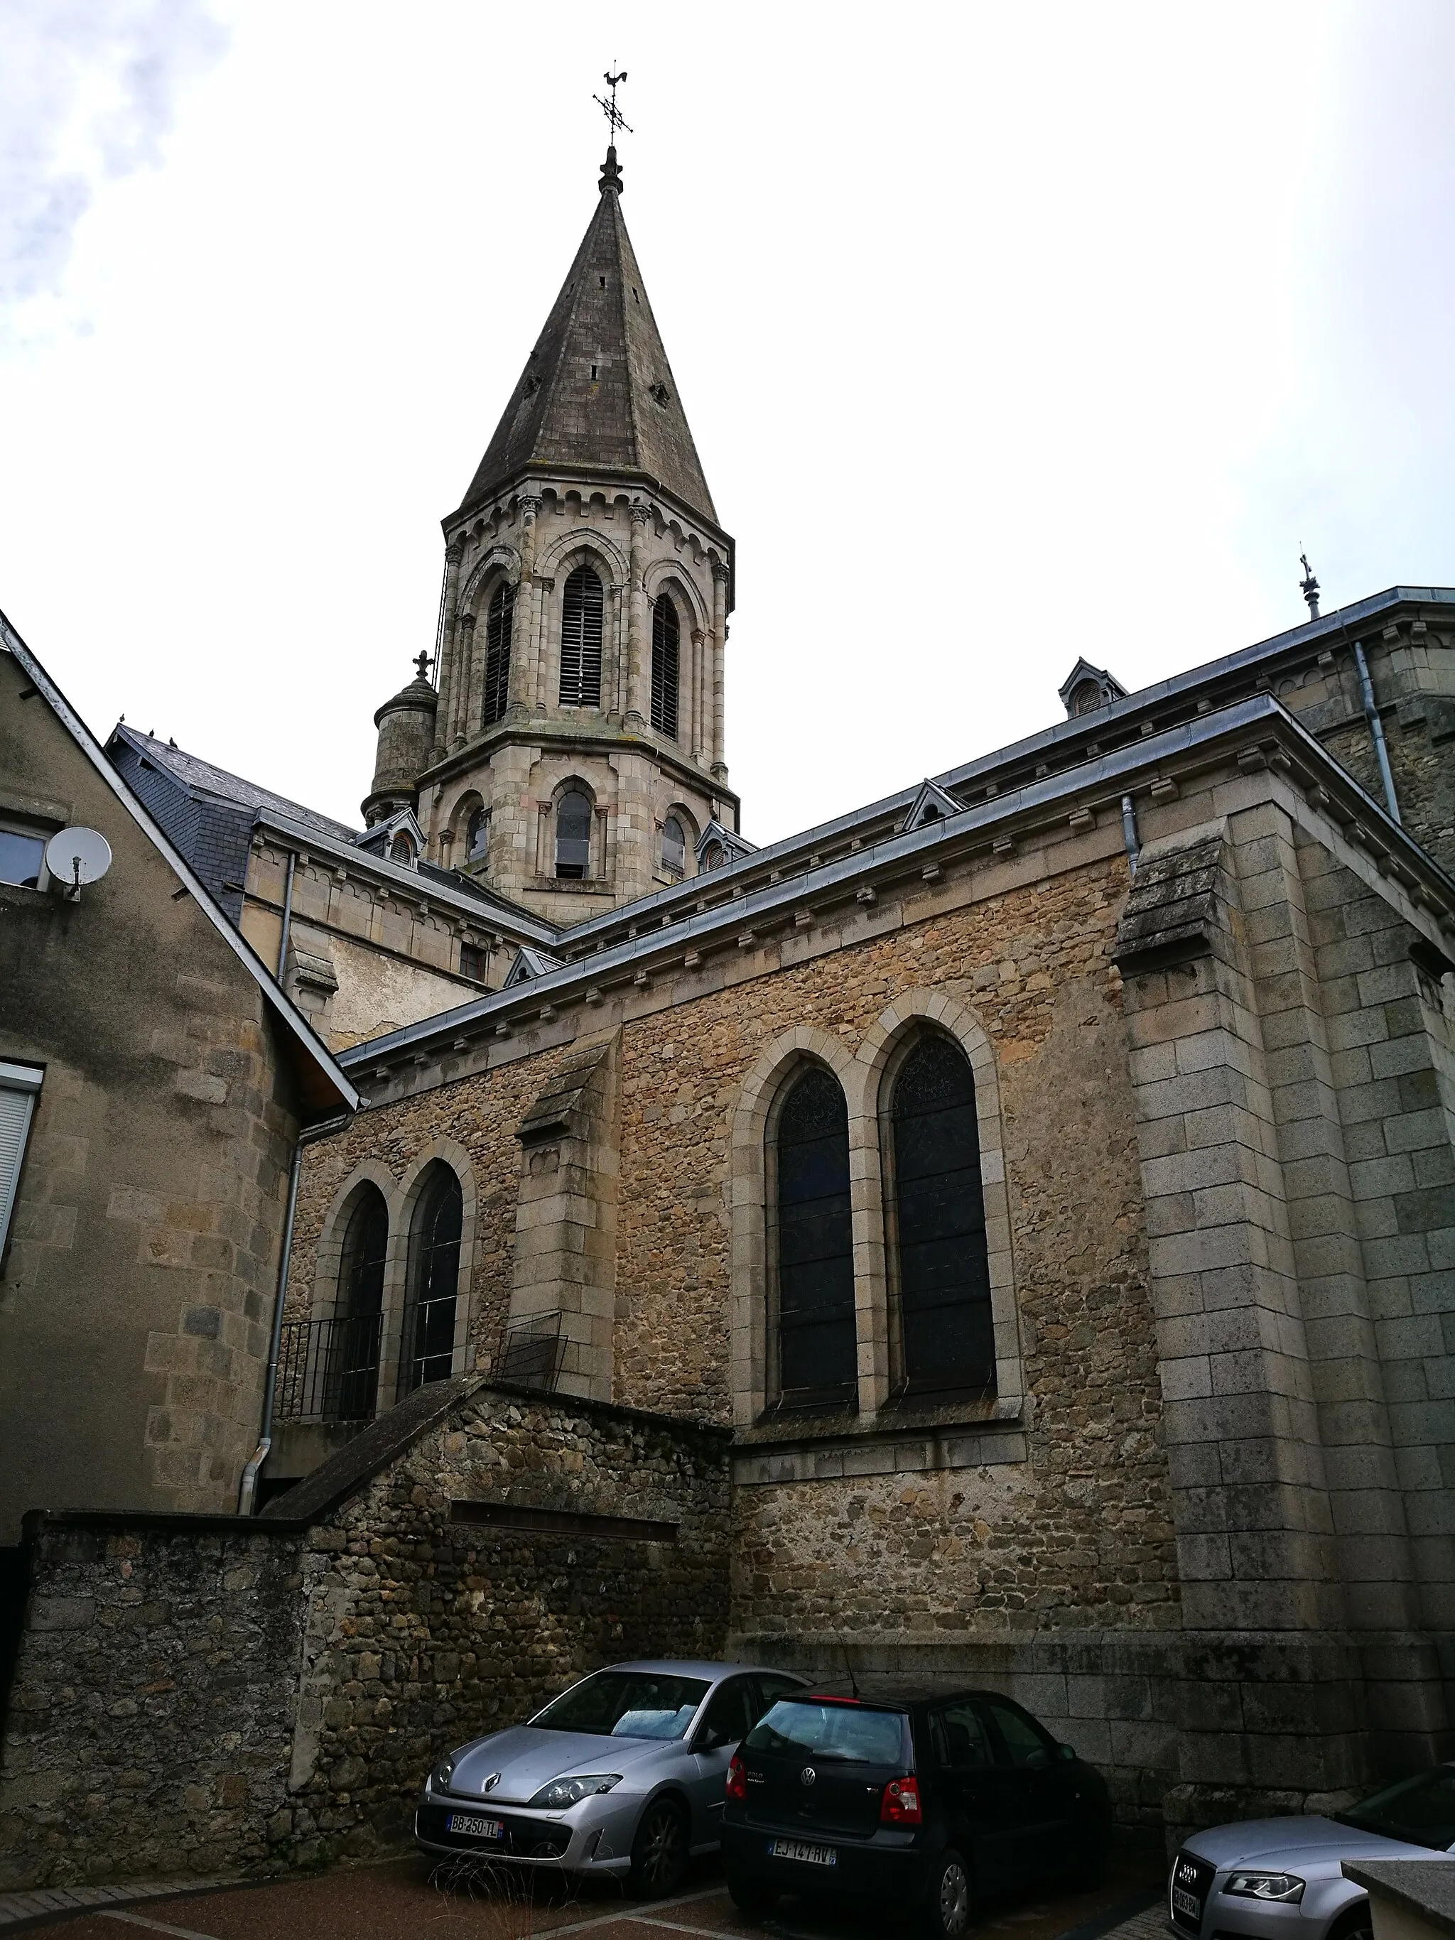
<svg viewBox="0 0 1455 1940">
<path fill-rule="evenodd" d="M 1084 1893 L 1024 1895 L 986 1905 L 978 1940 L 1152 1940 L 1158 1915 L 1143 1909 L 1160 1888 L 1160 1862 L 1125 1859 L 1106 1886 Z M 912 1932 L 908 1919 L 885 1909 L 826 1909 L 786 1899 L 772 1919 L 751 1924 L 733 1909 L 716 1862 L 702 1862 L 669 1901 L 625 1901 L 607 1882 L 563 1892 L 561 1882 L 501 1880 L 464 1868 L 431 1870 L 396 1859 L 336 1866 L 308 1878 L 266 1886 L 229 1886 L 128 1901 L 78 1913 L 45 1915 L 60 1940 L 871 1940 Z M 1131 1930 L 1121 1934 L 1121 1924 Z M 33 1923 L 25 1923 L 31 1926 Z M 6 1926 L 6 1932 L 17 1932 Z"/>
</svg>

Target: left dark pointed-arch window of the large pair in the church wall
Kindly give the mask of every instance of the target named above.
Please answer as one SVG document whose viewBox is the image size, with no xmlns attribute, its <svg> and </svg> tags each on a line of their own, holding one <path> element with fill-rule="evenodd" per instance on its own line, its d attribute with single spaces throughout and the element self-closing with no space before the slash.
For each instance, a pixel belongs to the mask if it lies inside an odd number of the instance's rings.
<svg viewBox="0 0 1455 1940">
<path fill-rule="evenodd" d="M 778 1114 L 778 1397 L 854 1406 L 854 1232 L 848 1104 L 823 1065 L 793 1081 Z"/>
</svg>

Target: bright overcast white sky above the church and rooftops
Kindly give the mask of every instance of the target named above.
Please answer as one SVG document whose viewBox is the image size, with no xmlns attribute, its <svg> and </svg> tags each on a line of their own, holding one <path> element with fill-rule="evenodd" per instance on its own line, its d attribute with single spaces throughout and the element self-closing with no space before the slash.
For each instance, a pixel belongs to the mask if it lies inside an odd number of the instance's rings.
<svg viewBox="0 0 1455 1940">
<path fill-rule="evenodd" d="M 1455 8 L 0 0 L 0 605 L 357 821 L 458 504 L 623 210 L 788 834 L 1455 582 Z"/>
</svg>

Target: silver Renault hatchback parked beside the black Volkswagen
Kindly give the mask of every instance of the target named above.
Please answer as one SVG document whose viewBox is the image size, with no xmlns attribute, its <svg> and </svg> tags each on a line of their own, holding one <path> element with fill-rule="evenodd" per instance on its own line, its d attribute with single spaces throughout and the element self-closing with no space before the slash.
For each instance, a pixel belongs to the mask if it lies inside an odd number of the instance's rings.
<svg viewBox="0 0 1455 1940">
<path fill-rule="evenodd" d="M 462 1746 L 415 1810 L 425 1853 L 625 1874 L 671 1893 L 722 1839 L 728 1762 L 803 1678 L 762 1665 L 669 1659 L 594 1670 L 543 1711 Z"/>
</svg>

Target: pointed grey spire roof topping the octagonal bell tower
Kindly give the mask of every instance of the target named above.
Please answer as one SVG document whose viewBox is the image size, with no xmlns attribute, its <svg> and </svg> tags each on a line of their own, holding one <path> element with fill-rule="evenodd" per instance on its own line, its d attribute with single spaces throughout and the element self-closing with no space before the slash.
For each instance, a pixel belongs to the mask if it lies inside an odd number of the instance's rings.
<svg viewBox="0 0 1455 1940">
<path fill-rule="evenodd" d="M 460 510 L 532 466 L 638 475 L 718 522 L 621 217 L 615 149 L 570 274 Z"/>
</svg>

